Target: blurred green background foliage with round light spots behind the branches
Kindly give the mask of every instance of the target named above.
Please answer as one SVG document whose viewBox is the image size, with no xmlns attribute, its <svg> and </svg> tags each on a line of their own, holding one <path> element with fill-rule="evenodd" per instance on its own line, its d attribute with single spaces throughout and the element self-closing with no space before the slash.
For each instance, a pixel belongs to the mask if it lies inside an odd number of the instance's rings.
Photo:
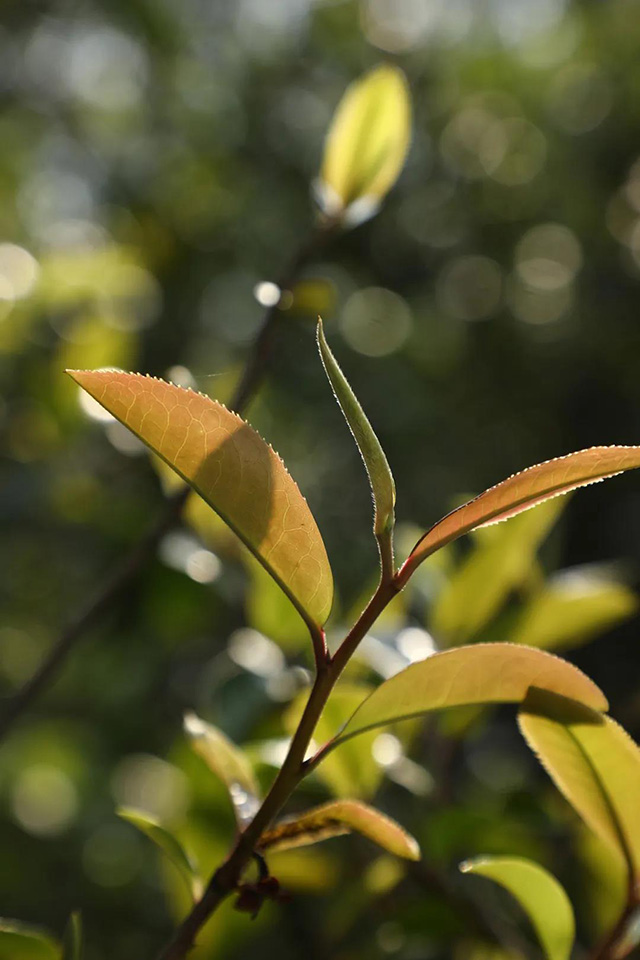
<svg viewBox="0 0 640 960">
<path fill-rule="evenodd" d="M 409 80 L 408 163 L 381 212 L 336 237 L 283 299 L 248 414 L 327 543 L 330 642 L 377 558 L 317 312 L 392 465 L 408 547 L 408 525 L 424 529 L 463 492 L 568 450 L 638 441 L 639 50 L 638 0 L 5 2 L 2 697 L 162 508 L 142 447 L 80 401 L 63 369 L 140 369 L 228 399 L 264 284 L 311 229 L 336 103 L 380 61 Z M 330 732 L 352 687 L 434 646 L 512 639 L 579 647 L 637 735 L 638 480 L 562 506 L 546 540 L 537 511 L 427 561 L 350 665 Z M 85 960 L 152 957 L 188 908 L 174 866 L 116 807 L 174 831 L 204 876 L 233 838 L 183 712 L 248 744 L 264 787 L 308 683 L 288 601 L 191 509 L 194 523 L 165 538 L 0 749 L 0 912 L 61 940 L 80 909 Z M 269 904 L 255 924 L 227 904 L 194 957 L 497 956 L 457 876 L 479 854 L 545 864 L 581 942 L 611 922 L 619 864 L 584 839 L 512 711 L 447 715 L 372 736 L 367 751 L 364 740 L 357 762 L 345 744 L 295 804 L 377 790 L 426 866 L 390 863 L 355 837 L 276 854 L 294 904 Z M 516 931 L 518 917 L 501 924 Z M 19 949 L 7 960 L 30 956 Z"/>
</svg>

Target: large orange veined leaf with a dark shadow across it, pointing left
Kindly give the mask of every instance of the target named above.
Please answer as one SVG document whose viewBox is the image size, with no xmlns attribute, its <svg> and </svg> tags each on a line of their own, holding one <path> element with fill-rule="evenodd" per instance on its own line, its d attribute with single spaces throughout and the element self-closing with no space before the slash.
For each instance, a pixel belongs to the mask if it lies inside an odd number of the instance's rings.
<svg viewBox="0 0 640 960">
<path fill-rule="evenodd" d="M 279 456 L 222 404 L 134 373 L 68 373 L 186 480 L 237 533 L 312 628 L 333 579 L 307 502 Z"/>
</svg>

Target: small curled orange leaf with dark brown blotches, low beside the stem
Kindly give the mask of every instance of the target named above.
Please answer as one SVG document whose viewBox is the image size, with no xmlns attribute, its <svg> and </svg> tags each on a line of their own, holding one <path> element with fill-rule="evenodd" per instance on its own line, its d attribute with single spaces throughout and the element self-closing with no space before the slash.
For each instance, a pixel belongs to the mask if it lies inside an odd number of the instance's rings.
<svg viewBox="0 0 640 960">
<path fill-rule="evenodd" d="M 352 831 L 368 837 L 396 857 L 419 860 L 417 841 L 402 827 L 374 807 L 355 800 L 334 800 L 305 813 L 281 820 L 260 838 L 261 850 L 288 850 Z"/>
</svg>

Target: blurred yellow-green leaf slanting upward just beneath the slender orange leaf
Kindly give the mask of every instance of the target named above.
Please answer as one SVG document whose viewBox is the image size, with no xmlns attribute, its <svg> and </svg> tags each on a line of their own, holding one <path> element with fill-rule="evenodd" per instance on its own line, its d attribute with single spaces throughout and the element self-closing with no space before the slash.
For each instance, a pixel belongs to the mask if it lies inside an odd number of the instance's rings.
<svg viewBox="0 0 640 960">
<path fill-rule="evenodd" d="M 549 500 L 474 546 L 432 610 L 430 627 L 447 646 L 465 643 L 475 636 L 498 611 L 509 591 L 527 579 L 535 551 L 562 508 L 562 500 Z"/>
</svg>

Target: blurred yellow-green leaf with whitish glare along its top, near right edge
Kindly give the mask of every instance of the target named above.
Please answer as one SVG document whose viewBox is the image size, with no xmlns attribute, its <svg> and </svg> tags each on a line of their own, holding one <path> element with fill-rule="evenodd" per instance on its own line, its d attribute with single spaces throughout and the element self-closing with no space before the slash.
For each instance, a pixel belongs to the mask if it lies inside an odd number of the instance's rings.
<svg viewBox="0 0 640 960">
<path fill-rule="evenodd" d="M 567 649 L 626 620 L 638 609 L 629 587 L 588 569 L 550 579 L 522 611 L 509 640 L 545 650 Z"/>
</svg>

